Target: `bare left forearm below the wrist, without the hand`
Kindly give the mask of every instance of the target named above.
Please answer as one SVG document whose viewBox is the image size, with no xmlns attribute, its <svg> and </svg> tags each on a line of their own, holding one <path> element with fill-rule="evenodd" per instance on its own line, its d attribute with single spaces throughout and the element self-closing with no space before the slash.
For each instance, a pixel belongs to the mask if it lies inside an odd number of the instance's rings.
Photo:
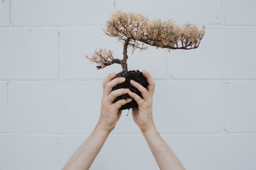
<svg viewBox="0 0 256 170">
<path fill-rule="evenodd" d="M 63 170 L 89 169 L 108 136 L 109 132 L 96 127 L 93 133 L 91 133 L 86 141 L 70 157 Z"/>
</svg>

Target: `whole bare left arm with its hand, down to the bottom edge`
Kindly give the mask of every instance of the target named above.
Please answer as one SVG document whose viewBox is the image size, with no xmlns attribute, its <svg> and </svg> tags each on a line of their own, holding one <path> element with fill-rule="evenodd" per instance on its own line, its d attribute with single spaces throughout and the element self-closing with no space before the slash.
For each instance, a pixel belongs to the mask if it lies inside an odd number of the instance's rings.
<svg viewBox="0 0 256 170">
<path fill-rule="evenodd" d="M 63 170 L 89 169 L 122 114 L 122 110 L 119 110 L 119 108 L 132 101 L 130 98 L 127 100 L 118 100 L 116 103 L 112 103 L 117 96 L 127 94 L 129 91 L 129 89 L 118 89 L 111 92 L 112 87 L 125 81 L 125 78 L 113 79 L 115 75 L 115 73 L 108 75 L 102 83 L 103 97 L 101 100 L 101 115 L 96 128 L 70 157 Z"/>
</svg>

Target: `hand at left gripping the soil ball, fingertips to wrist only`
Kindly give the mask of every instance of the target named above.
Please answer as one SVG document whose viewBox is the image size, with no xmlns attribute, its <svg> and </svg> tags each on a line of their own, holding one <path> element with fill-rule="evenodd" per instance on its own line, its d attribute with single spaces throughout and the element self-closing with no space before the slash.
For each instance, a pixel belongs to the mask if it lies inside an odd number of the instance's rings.
<svg viewBox="0 0 256 170">
<path fill-rule="evenodd" d="M 122 110 L 119 110 L 119 108 L 122 105 L 132 101 L 132 98 L 128 98 L 127 100 L 121 99 L 115 103 L 112 103 L 117 96 L 127 94 L 130 91 L 129 89 L 125 88 L 111 91 L 112 88 L 117 84 L 125 82 L 124 77 L 115 78 L 115 76 L 115 73 L 109 74 L 102 83 L 103 96 L 101 99 L 101 115 L 99 117 L 97 128 L 100 128 L 106 132 L 111 132 L 115 128 L 115 125 L 122 114 Z"/>
</svg>

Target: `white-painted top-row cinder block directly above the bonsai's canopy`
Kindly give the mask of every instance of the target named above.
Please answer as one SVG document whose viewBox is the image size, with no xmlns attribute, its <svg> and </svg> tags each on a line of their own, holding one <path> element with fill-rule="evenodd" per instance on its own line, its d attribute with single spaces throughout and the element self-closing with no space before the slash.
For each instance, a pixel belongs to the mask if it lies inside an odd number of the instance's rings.
<svg viewBox="0 0 256 170">
<path fill-rule="evenodd" d="M 134 5 L 136 4 L 136 5 Z M 143 6 L 143 8 L 142 8 Z M 174 19 L 176 24 L 186 21 L 194 24 L 223 24 L 224 11 L 221 0 L 217 1 L 123 1 L 116 0 L 115 8 L 124 12 L 139 12 L 148 15 L 150 20 L 161 18 L 162 21 Z"/>
</svg>

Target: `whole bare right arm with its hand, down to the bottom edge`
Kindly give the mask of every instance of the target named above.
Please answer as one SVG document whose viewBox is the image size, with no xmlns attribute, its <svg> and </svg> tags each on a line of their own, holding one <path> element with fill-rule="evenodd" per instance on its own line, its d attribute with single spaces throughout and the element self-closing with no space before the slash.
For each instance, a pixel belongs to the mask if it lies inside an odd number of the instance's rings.
<svg viewBox="0 0 256 170">
<path fill-rule="evenodd" d="M 147 89 L 133 80 L 130 82 L 131 85 L 141 92 L 142 98 L 131 91 L 128 92 L 128 94 L 138 103 L 138 109 L 133 108 L 133 119 L 141 129 L 141 132 L 149 145 L 150 151 L 153 153 L 161 170 L 185 170 L 177 156 L 155 129 L 152 116 L 155 83 L 148 72 L 144 70 L 142 73 L 149 83 Z"/>
</svg>

